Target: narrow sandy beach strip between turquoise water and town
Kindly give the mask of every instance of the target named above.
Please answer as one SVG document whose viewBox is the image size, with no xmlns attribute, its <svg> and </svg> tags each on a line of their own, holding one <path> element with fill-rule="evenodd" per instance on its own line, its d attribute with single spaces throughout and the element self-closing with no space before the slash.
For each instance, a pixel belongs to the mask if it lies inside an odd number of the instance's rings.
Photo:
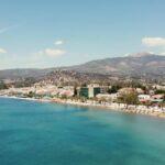
<svg viewBox="0 0 165 165">
<path fill-rule="evenodd" d="M 26 100 L 26 101 L 36 101 L 36 102 L 50 102 L 50 103 L 62 103 L 62 105 L 70 105 L 77 107 L 88 107 L 88 108 L 99 108 L 100 110 L 110 110 L 110 111 L 118 111 L 124 112 L 129 114 L 142 114 L 147 117 L 156 117 L 156 118 L 164 118 L 165 119 L 165 108 L 161 109 L 157 107 L 150 107 L 146 106 L 132 106 L 130 105 L 128 108 L 123 103 L 96 103 L 94 101 L 80 102 L 76 100 L 63 100 L 59 98 L 54 99 L 35 99 L 35 98 L 21 98 L 15 96 L 0 96 L 0 98 L 7 99 L 19 99 L 19 100 Z"/>
</svg>

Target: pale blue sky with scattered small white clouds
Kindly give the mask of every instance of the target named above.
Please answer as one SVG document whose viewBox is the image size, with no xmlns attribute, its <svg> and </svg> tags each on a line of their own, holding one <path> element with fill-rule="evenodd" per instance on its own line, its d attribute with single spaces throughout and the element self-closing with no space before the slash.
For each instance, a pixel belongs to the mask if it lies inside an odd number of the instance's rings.
<svg viewBox="0 0 165 165">
<path fill-rule="evenodd" d="M 164 0 L 0 0 L 0 69 L 165 55 Z"/>
</svg>

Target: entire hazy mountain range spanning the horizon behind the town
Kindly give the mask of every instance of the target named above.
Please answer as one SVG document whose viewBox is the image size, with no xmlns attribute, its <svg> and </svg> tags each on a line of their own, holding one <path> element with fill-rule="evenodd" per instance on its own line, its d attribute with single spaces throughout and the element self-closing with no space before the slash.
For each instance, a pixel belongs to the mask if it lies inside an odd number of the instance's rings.
<svg viewBox="0 0 165 165">
<path fill-rule="evenodd" d="M 0 79 L 16 79 L 34 77 L 45 78 L 55 70 L 70 72 L 91 75 L 108 75 L 114 77 L 143 77 L 151 79 L 165 79 L 165 56 L 151 53 L 138 53 L 124 57 L 112 57 L 106 59 L 91 61 L 81 65 L 47 68 L 47 69 L 8 69 L 0 70 Z"/>
</svg>

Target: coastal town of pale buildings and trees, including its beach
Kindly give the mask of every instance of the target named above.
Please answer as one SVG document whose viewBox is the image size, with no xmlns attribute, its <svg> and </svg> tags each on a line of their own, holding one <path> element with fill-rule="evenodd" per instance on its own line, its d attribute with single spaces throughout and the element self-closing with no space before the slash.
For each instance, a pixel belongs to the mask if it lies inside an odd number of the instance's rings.
<svg viewBox="0 0 165 165">
<path fill-rule="evenodd" d="M 57 86 L 51 81 L 30 87 L 10 87 L 0 90 L 2 97 L 16 97 L 38 101 L 95 106 L 131 113 L 165 117 L 165 85 L 99 85 Z"/>
</svg>

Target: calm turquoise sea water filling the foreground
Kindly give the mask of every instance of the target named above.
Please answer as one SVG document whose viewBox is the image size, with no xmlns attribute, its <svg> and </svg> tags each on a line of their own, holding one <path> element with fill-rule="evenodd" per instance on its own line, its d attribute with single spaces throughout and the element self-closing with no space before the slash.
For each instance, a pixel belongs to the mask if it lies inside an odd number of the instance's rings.
<svg viewBox="0 0 165 165">
<path fill-rule="evenodd" d="M 165 165 L 165 120 L 0 99 L 0 165 Z"/>
</svg>

